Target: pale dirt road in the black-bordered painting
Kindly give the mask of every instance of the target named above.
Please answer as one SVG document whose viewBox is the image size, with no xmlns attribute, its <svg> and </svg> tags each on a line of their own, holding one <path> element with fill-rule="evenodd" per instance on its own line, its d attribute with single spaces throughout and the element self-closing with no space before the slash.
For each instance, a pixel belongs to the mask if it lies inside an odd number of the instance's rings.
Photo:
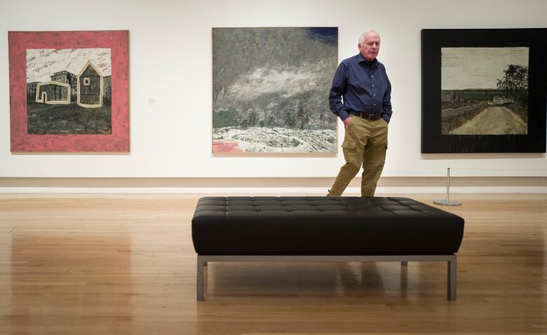
<svg viewBox="0 0 547 335">
<path fill-rule="evenodd" d="M 450 135 L 522 135 L 527 124 L 507 107 L 488 107 Z"/>
</svg>

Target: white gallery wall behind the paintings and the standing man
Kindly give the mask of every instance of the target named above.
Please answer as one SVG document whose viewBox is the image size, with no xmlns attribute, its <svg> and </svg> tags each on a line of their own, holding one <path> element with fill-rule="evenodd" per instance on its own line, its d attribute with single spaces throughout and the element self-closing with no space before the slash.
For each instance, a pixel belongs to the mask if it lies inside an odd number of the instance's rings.
<svg viewBox="0 0 547 335">
<path fill-rule="evenodd" d="M 0 177 L 334 177 L 331 156 L 213 156 L 212 27 L 338 27 L 339 60 L 381 35 L 393 86 L 384 177 L 547 176 L 541 153 L 420 153 L 424 28 L 547 27 L 547 1 L 0 0 Z M 129 153 L 11 153 L 8 31 L 127 29 Z M 547 60 L 546 60 L 547 62 Z M 325 100 L 327 97 L 325 97 Z M 339 122 L 339 143 L 344 130 Z M 503 170 L 503 171 L 499 171 Z"/>
</svg>

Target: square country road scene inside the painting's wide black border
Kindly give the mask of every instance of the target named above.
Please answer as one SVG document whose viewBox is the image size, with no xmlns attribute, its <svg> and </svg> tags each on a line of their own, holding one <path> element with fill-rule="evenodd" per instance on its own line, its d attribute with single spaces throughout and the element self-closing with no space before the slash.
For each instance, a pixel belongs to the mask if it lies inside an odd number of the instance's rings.
<svg viewBox="0 0 547 335">
<path fill-rule="evenodd" d="M 441 133 L 525 135 L 528 48 L 441 48 Z"/>
</svg>

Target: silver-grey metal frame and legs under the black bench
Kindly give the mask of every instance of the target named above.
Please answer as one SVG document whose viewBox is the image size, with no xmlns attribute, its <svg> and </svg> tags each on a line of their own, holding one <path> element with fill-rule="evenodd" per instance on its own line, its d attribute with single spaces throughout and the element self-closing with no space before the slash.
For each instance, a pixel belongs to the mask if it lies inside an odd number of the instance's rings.
<svg viewBox="0 0 547 335">
<path fill-rule="evenodd" d="M 446 261 L 447 262 L 447 299 L 456 301 L 456 254 L 442 255 L 378 255 L 378 256 L 298 256 L 298 255 L 198 255 L 198 301 L 203 301 L 203 267 L 210 261 L 235 262 L 307 262 L 307 261 L 400 261 L 401 266 L 407 266 L 409 261 Z"/>
</svg>

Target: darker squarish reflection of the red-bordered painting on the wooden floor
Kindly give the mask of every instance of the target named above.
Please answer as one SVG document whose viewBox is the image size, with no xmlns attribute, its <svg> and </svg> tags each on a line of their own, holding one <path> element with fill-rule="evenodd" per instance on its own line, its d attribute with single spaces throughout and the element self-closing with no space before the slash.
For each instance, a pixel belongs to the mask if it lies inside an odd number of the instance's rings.
<svg viewBox="0 0 547 335">
<path fill-rule="evenodd" d="M 96 334 L 129 329 L 129 235 L 33 235 L 11 239 L 11 329 Z"/>
</svg>

